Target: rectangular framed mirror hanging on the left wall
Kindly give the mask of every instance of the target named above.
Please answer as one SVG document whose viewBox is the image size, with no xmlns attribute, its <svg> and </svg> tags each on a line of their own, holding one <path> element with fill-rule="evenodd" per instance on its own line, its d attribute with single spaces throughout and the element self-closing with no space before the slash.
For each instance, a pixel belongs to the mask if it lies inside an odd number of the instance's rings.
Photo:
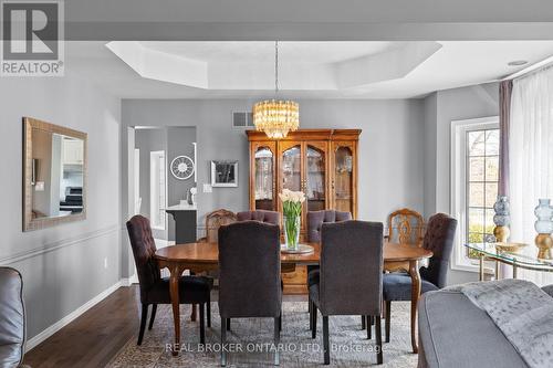
<svg viewBox="0 0 553 368">
<path fill-rule="evenodd" d="M 23 231 L 86 218 L 86 133 L 23 118 Z"/>
</svg>

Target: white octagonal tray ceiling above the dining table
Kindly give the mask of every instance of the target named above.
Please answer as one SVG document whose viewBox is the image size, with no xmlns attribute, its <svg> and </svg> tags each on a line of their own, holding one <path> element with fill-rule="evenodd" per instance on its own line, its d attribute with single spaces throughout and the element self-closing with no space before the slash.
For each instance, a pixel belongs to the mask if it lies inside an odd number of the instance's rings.
<svg viewBox="0 0 553 368">
<path fill-rule="evenodd" d="M 118 43 L 118 48 L 132 43 Z M 105 44 L 67 42 L 67 73 L 90 78 L 123 98 L 273 95 L 273 42 L 135 42 L 135 51 L 146 50 L 147 57 L 135 55 L 135 61 L 126 57 L 125 62 Z M 117 49 L 113 45 L 112 50 Z M 508 66 L 510 61 L 532 64 L 551 55 L 553 41 L 282 42 L 281 95 L 420 97 L 497 81 L 528 66 Z"/>
</svg>

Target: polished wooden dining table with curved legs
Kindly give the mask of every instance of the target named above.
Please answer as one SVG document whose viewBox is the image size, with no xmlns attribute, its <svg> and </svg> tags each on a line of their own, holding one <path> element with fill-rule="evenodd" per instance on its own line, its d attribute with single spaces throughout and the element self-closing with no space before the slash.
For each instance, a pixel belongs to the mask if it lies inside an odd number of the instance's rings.
<svg viewBox="0 0 553 368">
<path fill-rule="evenodd" d="M 317 243 L 306 243 L 314 251 L 304 254 L 281 253 L 282 265 L 317 265 L 321 248 Z M 411 313 L 410 332 L 413 353 L 417 347 L 417 303 L 420 295 L 419 261 L 432 256 L 432 252 L 410 244 L 384 243 L 384 270 L 406 271 L 411 277 Z M 179 277 L 186 270 L 194 272 L 217 270 L 219 267 L 219 246 L 217 243 L 187 243 L 161 248 L 156 252 L 160 269 L 167 267 L 170 272 L 169 292 L 175 324 L 175 348 L 173 355 L 178 355 L 180 347 L 180 309 L 179 309 Z"/>
</svg>

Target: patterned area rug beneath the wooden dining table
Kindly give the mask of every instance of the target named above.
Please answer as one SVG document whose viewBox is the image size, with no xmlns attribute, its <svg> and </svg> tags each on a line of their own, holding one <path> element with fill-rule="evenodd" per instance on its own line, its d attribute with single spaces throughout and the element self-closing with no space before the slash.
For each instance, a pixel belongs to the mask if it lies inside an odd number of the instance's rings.
<svg viewBox="0 0 553 368">
<path fill-rule="evenodd" d="M 392 340 L 384 344 L 382 367 L 413 368 L 417 355 L 410 351 L 409 303 L 392 304 Z M 317 319 L 317 338 L 311 338 L 307 304 L 283 303 L 281 333 L 281 367 L 317 367 L 323 364 L 322 317 Z M 220 318 L 212 303 L 212 327 L 206 328 L 206 345 L 199 345 L 199 324 L 190 322 L 190 306 L 181 305 L 182 350 L 173 357 L 173 314 L 168 305 L 159 306 L 152 330 L 144 335 L 142 346 L 131 339 L 106 366 L 119 367 L 218 367 L 220 364 Z M 137 332 L 138 333 L 138 332 Z M 232 319 L 227 333 L 229 348 L 227 367 L 273 366 L 273 320 L 271 318 Z M 384 320 L 383 320 L 384 339 Z M 375 336 L 367 339 L 361 329 L 361 317 L 330 317 L 331 367 L 366 367 L 376 365 Z M 241 350 L 241 351 L 240 351 Z"/>
</svg>

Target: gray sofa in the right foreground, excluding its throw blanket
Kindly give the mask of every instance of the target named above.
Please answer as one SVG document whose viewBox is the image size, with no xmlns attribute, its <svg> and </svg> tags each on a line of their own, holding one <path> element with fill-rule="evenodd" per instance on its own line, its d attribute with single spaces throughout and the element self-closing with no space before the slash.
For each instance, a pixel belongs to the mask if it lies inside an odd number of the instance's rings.
<svg viewBox="0 0 553 368">
<path fill-rule="evenodd" d="M 418 324 L 419 368 L 528 367 L 486 312 L 461 293 L 426 293 Z"/>
</svg>

